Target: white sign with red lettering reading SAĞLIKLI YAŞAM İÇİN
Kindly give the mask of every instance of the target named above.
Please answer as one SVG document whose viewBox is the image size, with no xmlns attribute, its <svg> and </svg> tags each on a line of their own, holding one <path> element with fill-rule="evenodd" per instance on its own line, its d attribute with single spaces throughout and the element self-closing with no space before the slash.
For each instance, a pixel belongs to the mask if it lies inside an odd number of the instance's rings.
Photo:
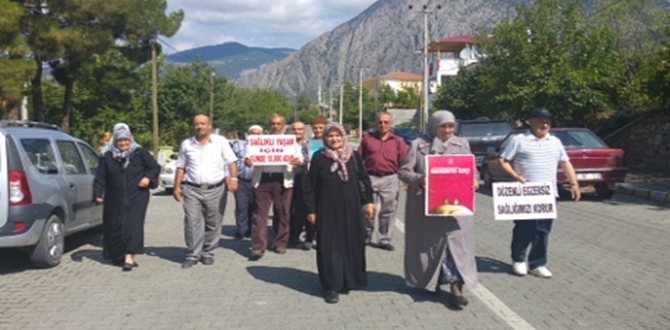
<svg viewBox="0 0 670 330">
<path fill-rule="evenodd" d="M 298 148 L 295 135 L 249 135 L 247 140 L 254 166 L 287 165 Z"/>
</svg>

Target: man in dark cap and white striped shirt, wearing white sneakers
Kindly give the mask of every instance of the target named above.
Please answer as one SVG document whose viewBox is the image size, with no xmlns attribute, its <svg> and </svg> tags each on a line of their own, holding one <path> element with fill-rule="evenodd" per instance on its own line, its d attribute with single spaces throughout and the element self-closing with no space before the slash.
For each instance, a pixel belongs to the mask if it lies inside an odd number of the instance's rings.
<svg viewBox="0 0 670 330">
<path fill-rule="evenodd" d="M 530 130 L 515 136 L 500 155 L 502 168 L 515 180 L 556 183 L 558 165 L 570 180 L 570 192 L 575 202 L 581 197 L 575 170 L 558 138 L 549 135 L 551 112 L 545 108 L 531 111 Z M 512 233 L 512 268 L 515 274 L 527 273 L 551 278 L 547 263 L 547 244 L 553 219 L 516 220 Z M 526 264 L 526 251 L 531 246 Z M 530 271 L 528 269 L 530 268 Z"/>
</svg>

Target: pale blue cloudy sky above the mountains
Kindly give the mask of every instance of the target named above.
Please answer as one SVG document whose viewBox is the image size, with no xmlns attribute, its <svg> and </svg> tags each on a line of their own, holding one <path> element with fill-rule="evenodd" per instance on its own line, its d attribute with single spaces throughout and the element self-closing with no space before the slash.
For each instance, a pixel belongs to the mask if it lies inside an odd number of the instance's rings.
<svg viewBox="0 0 670 330">
<path fill-rule="evenodd" d="M 376 0 L 167 0 L 185 12 L 179 32 L 162 37 L 164 51 L 236 41 L 298 49 L 356 17 Z"/>
</svg>

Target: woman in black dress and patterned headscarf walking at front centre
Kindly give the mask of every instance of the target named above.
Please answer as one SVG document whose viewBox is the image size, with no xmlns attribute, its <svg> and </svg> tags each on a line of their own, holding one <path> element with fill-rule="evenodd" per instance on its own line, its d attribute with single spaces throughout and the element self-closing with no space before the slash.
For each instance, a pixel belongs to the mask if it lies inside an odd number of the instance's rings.
<svg viewBox="0 0 670 330">
<path fill-rule="evenodd" d="M 316 224 L 319 279 L 327 303 L 367 284 L 365 223 L 374 219 L 372 185 L 361 156 L 347 145 L 344 128 L 330 123 L 303 180 L 307 221 Z M 361 211 L 363 206 L 364 211 Z"/>
</svg>

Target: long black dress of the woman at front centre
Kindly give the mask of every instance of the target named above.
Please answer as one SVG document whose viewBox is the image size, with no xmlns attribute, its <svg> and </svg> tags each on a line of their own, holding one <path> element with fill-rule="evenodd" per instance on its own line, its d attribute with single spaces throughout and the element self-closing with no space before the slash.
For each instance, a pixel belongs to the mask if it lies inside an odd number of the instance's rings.
<svg viewBox="0 0 670 330">
<path fill-rule="evenodd" d="M 358 170 L 361 172 L 357 174 Z M 349 180 L 331 172 L 333 161 L 314 154 L 309 174 L 303 178 L 308 213 L 316 213 L 316 261 L 323 289 L 347 291 L 367 284 L 365 272 L 365 223 L 362 205 L 372 202 L 372 185 L 358 153 L 347 162 Z M 361 196 L 357 176 L 365 186 Z"/>
</svg>

